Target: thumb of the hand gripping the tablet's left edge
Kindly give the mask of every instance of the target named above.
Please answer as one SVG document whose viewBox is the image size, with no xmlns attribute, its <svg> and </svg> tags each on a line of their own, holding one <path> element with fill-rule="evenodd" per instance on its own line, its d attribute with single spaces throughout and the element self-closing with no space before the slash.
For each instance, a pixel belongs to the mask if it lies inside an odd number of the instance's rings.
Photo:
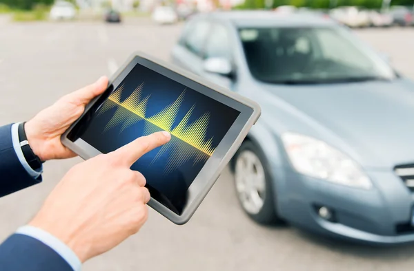
<svg viewBox="0 0 414 271">
<path fill-rule="evenodd" d="M 68 98 L 77 105 L 86 105 L 108 87 L 108 78 L 101 76 L 95 83 L 83 87 L 68 95 Z"/>
</svg>

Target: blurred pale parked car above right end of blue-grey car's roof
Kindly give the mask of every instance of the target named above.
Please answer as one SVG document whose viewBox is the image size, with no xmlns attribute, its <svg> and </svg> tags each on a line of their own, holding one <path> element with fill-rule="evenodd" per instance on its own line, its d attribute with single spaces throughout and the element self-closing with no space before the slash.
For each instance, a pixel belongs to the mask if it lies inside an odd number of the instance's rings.
<svg viewBox="0 0 414 271">
<path fill-rule="evenodd" d="M 330 15 L 339 23 L 350 28 L 366 28 L 371 23 L 368 12 L 357 7 L 335 8 L 331 10 Z"/>
</svg>

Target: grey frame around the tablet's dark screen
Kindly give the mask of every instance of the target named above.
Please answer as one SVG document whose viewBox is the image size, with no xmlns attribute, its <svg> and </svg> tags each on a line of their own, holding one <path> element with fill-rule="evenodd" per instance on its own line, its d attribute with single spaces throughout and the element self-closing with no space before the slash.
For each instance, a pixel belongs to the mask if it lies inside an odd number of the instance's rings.
<svg viewBox="0 0 414 271">
<path fill-rule="evenodd" d="M 170 65 L 163 61 L 159 61 L 158 59 L 148 56 L 142 52 L 135 52 L 135 54 L 132 54 L 132 56 L 128 58 L 126 63 L 124 63 L 124 65 L 122 65 L 122 67 L 119 68 L 119 70 L 110 78 L 108 89 L 117 89 L 118 85 L 124 80 L 124 78 L 126 78 L 126 76 L 128 76 L 130 71 L 137 64 L 143 65 L 148 69 L 152 69 L 155 72 L 170 78 L 171 80 L 175 80 L 186 87 L 208 96 L 209 98 L 213 98 L 214 100 L 224 103 L 224 105 L 228 105 L 229 107 L 240 111 L 239 116 L 230 127 L 226 135 L 224 135 L 224 138 L 215 149 L 213 155 L 207 160 L 197 177 L 195 177 L 193 183 L 188 187 L 189 193 L 193 193 L 193 195 L 190 195 L 190 202 L 188 202 L 181 215 L 177 215 L 177 213 L 174 213 L 172 210 L 157 202 L 157 200 L 153 198 L 151 198 L 150 202 L 148 202 L 150 207 L 161 215 L 164 215 L 164 217 L 175 224 L 185 224 L 190 217 L 193 216 L 199 204 L 201 204 L 208 191 L 210 191 L 210 188 L 218 179 L 221 171 L 233 157 L 240 144 L 242 144 L 250 127 L 252 127 L 259 118 L 260 107 L 256 102 L 248 100 L 233 91 L 224 89 L 223 87 L 210 83 L 208 80 L 204 80 L 203 78 L 196 76 L 195 74 L 191 74 L 184 69 L 180 69 L 179 67 Z M 77 122 L 81 120 L 86 112 L 88 112 L 92 105 L 97 102 L 99 97 L 92 100 L 92 102 L 86 106 L 82 116 L 74 122 L 61 137 L 61 141 L 66 147 L 77 153 L 85 160 L 99 155 L 101 152 L 87 142 L 81 140 L 81 138 L 77 139 L 75 142 L 72 142 L 67 138 L 67 135 L 70 131 L 72 131 L 73 127 L 75 127 Z"/>
</svg>

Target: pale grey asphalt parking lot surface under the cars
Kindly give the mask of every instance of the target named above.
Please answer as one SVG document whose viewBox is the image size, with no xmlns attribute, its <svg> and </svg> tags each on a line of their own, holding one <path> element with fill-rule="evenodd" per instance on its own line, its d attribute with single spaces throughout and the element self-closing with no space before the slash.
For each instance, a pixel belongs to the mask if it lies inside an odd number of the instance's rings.
<svg viewBox="0 0 414 271">
<path fill-rule="evenodd" d="M 100 75 L 135 50 L 168 59 L 181 25 L 146 20 L 103 23 L 7 23 L 0 20 L 0 124 L 34 113 Z M 414 78 L 414 29 L 359 30 Z M 45 164 L 43 183 L 0 199 L 0 239 L 25 224 L 79 158 Z M 81 187 L 79 188 L 81 189 Z M 254 224 L 237 204 L 226 170 L 185 226 L 150 210 L 141 231 L 83 270 L 412 270 L 414 245 L 372 248 Z"/>
</svg>

